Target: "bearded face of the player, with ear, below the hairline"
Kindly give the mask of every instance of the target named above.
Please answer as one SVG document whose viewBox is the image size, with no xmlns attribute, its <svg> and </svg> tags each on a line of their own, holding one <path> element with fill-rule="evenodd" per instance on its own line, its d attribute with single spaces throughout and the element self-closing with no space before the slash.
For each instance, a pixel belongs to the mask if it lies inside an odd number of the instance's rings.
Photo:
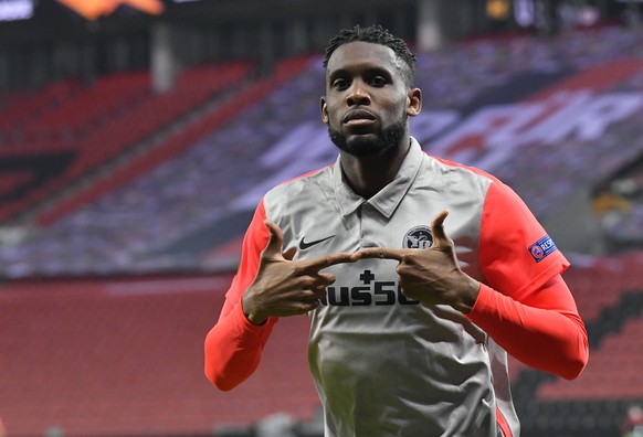
<svg viewBox="0 0 643 437">
<path fill-rule="evenodd" d="M 345 152 L 361 157 L 400 147 L 408 116 L 420 110 L 419 89 L 409 89 L 403 62 L 380 44 L 351 42 L 339 46 L 326 70 L 322 118 L 330 139 Z"/>
</svg>

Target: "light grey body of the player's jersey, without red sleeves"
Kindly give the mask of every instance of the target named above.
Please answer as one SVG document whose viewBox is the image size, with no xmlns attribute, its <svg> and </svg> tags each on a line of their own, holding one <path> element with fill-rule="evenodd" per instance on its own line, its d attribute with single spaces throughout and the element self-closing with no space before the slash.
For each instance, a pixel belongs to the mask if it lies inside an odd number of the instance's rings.
<svg viewBox="0 0 643 437">
<path fill-rule="evenodd" d="M 296 257 L 309 258 L 428 247 L 432 218 L 447 209 L 444 228 L 463 269 L 498 286 L 485 277 L 479 243 L 487 191 L 500 182 L 429 157 L 414 139 L 394 181 L 371 199 L 342 178 L 338 160 L 265 195 L 266 217 L 284 231 L 284 252 L 296 247 Z M 388 259 L 330 267 L 337 280 L 309 315 L 309 365 L 326 436 L 496 437 L 498 422 L 518 436 L 505 351 L 451 307 L 405 298 L 396 267 Z"/>
</svg>

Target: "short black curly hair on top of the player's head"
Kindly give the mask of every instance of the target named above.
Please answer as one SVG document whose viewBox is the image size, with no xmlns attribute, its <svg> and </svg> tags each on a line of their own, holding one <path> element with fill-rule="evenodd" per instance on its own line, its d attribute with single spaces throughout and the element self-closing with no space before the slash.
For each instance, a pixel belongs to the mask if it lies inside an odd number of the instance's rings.
<svg viewBox="0 0 643 437">
<path fill-rule="evenodd" d="M 328 67 L 328 61 L 330 60 L 330 56 L 340 45 L 356 41 L 380 44 L 391 49 L 396 53 L 396 56 L 402 60 L 408 66 L 408 68 L 404 68 L 402 72 L 407 85 L 413 85 L 415 76 L 415 54 L 409 50 L 409 46 L 404 40 L 394 36 L 380 24 L 375 24 L 368 28 L 362 28 L 361 25 L 357 24 L 352 29 L 340 30 L 339 33 L 328 42 L 328 46 L 326 47 L 326 55 L 324 57 L 324 68 Z"/>
</svg>

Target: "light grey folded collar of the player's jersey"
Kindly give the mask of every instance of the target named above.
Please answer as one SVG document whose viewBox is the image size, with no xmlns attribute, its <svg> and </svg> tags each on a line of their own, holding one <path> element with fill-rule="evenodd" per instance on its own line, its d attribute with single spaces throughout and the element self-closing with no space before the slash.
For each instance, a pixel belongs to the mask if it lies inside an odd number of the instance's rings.
<svg viewBox="0 0 643 437">
<path fill-rule="evenodd" d="M 339 158 L 337 157 L 335 166 L 333 167 L 333 184 L 335 198 L 337 199 L 341 214 L 344 216 L 352 214 L 363 203 L 369 203 L 380 214 L 389 218 L 404 198 L 404 194 L 409 191 L 411 183 L 415 180 L 424 158 L 424 152 L 415 138 L 411 137 L 409 152 L 404 157 L 396 178 L 368 200 L 352 191 L 346 181 L 344 171 L 341 171 Z"/>
</svg>

